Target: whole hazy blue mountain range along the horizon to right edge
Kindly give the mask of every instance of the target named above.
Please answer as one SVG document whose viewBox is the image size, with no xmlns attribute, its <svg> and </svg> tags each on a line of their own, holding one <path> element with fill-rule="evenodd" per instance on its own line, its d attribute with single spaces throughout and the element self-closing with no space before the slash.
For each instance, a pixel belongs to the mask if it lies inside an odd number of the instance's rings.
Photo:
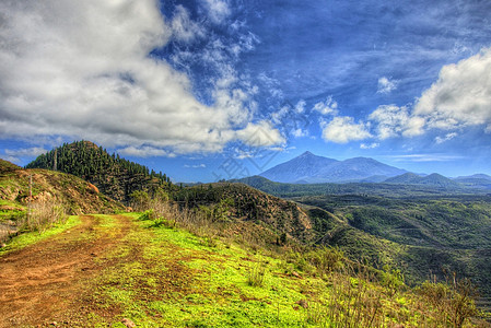
<svg viewBox="0 0 491 328">
<path fill-rule="evenodd" d="M 293 160 L 271 167 L 259 176 L 283 184 L 384 183 L 446 189 L 461 187 L 491 189 L 491 176 L 486 174 L 451 179 L 437 173 L 430 175 L 414 174 L 373 159 L 354 157 L 338 161 L 314 155 L 308 151 Z"/>
</svg>

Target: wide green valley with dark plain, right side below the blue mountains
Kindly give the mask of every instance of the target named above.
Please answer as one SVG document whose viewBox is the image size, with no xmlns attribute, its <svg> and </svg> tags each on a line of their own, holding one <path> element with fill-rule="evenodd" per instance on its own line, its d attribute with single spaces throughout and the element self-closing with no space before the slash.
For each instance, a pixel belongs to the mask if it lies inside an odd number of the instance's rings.
<svg viewBox="0 0 491 328">
<path fill-rule="evenodd" d="M 429 272 L 445 279 L 443 269 L 453 270 L 472 278 L 482 295 L 491 296 L 486 256 L 491 249 L 491 199 L 486 194 L 455 189 L 452 195 L 425 185 L 292 185 L 258 176 L 241 181 L 312 207 L 317 244 L 340 247 L 377 268 L 404 268 L 409 283 L 424 281 Z"/>
</svg>

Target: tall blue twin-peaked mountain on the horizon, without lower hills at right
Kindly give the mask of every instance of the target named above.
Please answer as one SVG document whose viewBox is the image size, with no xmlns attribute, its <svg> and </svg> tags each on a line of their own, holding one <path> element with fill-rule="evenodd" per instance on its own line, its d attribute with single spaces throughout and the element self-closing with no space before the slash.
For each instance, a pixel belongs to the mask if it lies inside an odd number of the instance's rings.
<svg viewBox="0 0 491 328">
<path fill-rule="evenodd" d="M 293 160 L 271 167 L 260 176 L 278 183 L 322 184 L 364 179 L 372 181 L 372 177 L 381 180 L 404 173 L 406 173 L 405 169 L 383 164 L 373 159 L 355 157 L 337 161 L 305 152 Z"/>
</svg>

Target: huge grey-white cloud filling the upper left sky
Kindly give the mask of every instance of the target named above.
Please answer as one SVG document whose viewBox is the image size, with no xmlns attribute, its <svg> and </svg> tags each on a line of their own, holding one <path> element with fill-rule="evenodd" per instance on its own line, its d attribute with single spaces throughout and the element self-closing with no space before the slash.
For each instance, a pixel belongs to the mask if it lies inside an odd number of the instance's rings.
<svg viewBox="0 0 491 328">
<path fill-rule="evenodd" d="M 206 3 L 225 16 L 226 2 Z M 0 13 L 1 138 L 58 134 L 144 155 L 143 144 L 217 152 L 250 130 L 249 90 L 218 81 L 206 105 L 187 74 L 149 56 L 173 37 L 200 35 L 184 8 L 171 22 L 155 0 L 8 0 Z"/>
</svg>

